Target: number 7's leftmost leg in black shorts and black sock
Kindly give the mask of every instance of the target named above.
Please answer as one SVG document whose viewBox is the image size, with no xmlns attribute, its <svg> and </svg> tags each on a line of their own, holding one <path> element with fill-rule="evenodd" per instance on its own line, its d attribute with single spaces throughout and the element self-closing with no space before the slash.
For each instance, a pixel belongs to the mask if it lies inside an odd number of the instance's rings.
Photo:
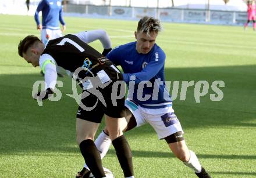
<svg viewBox="0 0 256 178">
<path fill-rule="evenodd" d="M 97 103 L 96 106 L 95 103 Z M 86 107 L 94 108 L 88 110 Z M 81 100 L 77 112 L 77 144 L 79 144 L 81 154 L 95 177 L 105 177 L 101 156 L 93 141 L 104 115 L 102 107 L 102 103 L 97 102 L 97 96 L 89 95 Z"/>
</svg>

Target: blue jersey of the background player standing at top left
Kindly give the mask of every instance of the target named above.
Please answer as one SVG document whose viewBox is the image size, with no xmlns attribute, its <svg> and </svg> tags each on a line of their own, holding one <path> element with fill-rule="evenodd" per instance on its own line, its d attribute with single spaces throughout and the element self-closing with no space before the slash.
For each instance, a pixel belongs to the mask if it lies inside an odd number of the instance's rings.
<svg viewBox="0 0 256 178">
<path fill-rule="evenodd" d="M 41 0 L 35 11 L 35 21 L 40 24 L 38 13 L 42 11 L 42 28 L 59 30 L 59 21 L 64 26 L 61 0 Z"/>
</svg>

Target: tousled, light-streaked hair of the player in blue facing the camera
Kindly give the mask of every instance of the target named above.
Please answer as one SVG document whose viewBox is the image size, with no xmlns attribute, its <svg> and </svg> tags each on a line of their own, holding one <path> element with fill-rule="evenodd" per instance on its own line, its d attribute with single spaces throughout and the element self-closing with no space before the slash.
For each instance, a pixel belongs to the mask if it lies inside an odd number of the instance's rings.
<svg viewBox="0 0 256 178">
<path fill-rule="evenodd" d="M 138 21 L 137 32 L 145 32 L 148 36 L 150 36 L 151 32 L 161 31 L 162 27 L 160 21 L 158 19 L 154 19 L 153 17 L 144 16 Z"/>
</svg>

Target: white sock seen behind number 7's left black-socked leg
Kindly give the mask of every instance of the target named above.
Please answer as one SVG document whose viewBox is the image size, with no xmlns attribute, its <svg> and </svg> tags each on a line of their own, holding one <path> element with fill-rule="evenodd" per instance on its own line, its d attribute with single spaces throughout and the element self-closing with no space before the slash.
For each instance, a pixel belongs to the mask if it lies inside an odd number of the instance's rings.
<svg viewBox="0 0 256 178">
<path fill-rule="evenodd" d="M 108 135 L 102 130 L 101 133 L 99 133 L 99 136 L 97 139 L 94 141 L 95 146 L 99 150 L 99 154 L 101 155 L 101 159 L 105 157 L 106 152 L 108 152 L 108 149 L 111 145 L 111 139 L 109 138 Z M 84 164 L 84 168 L 90 170 L 86 164 Z"/>
</svg>

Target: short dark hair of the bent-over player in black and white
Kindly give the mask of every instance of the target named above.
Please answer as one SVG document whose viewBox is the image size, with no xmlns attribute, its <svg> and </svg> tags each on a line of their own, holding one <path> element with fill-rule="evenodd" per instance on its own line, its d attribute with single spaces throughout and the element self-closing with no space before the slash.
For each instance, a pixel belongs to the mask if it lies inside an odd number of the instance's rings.
<svg viewBox="0 0 256 178">
<path fill-rule="evenodd" d="M 40 41 L 40 39 L 38 37 L 35 37 L 34 35 L 29 35 L 21 40 L 18 45 L 18 53 L 20 57 L 23 57 L 23 53 L 26 53 L 27 49 L 29 49 L 29 47 L 32 46 L 36 41 Z"/>
</svg>

